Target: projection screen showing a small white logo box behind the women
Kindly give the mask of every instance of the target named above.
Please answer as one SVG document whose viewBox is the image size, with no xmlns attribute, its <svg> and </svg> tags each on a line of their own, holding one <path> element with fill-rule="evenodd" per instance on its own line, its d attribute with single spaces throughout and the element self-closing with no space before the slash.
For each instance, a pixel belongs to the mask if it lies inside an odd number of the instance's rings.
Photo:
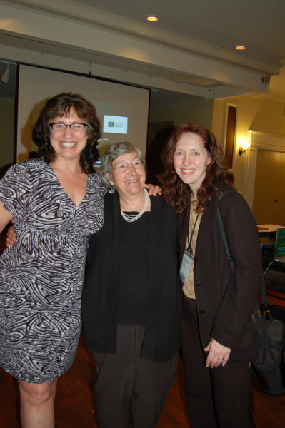
<svg viewBox="0 0 285 428">
<path fill-rule="evenodd" d="M 145 156 L 148 89 L 20 64 L 17 162 L 26 161 L 29 152 L 37 150 L 31 128 L 47 99 L 62 92 L 80 93 L 96 107 L 102 130 L 100 156 L 118 141 L 133 143 Z"/>
</svg>

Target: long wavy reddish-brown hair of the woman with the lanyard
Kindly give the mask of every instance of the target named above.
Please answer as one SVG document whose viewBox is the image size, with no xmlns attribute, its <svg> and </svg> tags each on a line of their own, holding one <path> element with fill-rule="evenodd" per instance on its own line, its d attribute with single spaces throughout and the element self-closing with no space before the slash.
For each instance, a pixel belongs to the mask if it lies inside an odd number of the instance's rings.
<svg viewBox="0 0 285 428">
<path fill-rule="evenodd" d="M 164 198 L 174 208 L 177 217 L 184 215 L 191 200 L 189 185 L 179 178 L 174 168 L 176 144 L 185 133 L 194 133 L 201 137 L 204 142 L 204 148 L 206 148 L 211 159 L 206 167 L 206 176 L 197 193 L 197 212 L 202 213 L 206 209 L 213 193 L 219 198 L 221 192 L 215 186 L 216 181 L 219 180 L 229 188 L 236 190 L 234 175 L 229 173 L 229 165 L 226 163 L 224 153 L 211 131 L 199 123 L 184 123 L 179 128 L 176 128 L 166 146 L 164 146 L 161 160 L 165 170 L 159 175 L 159 181 L 164 190 Z"/>
</svg>

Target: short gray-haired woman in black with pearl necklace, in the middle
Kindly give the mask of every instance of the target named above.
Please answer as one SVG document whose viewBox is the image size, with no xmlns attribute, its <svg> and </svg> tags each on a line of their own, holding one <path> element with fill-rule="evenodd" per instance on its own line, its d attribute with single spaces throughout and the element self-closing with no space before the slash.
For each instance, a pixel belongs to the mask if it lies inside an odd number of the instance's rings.
<svg viewBox="0 0 285 428">
<path fill-rule="evenodd" d="M 177 370 L 177 219 L 162 196 L 144 190 L 142 156 L 131 143 L 108 148 L 101 168 L 111 191 L 82 295 L 99 427 L 129 427 L 132 399 L 131 427 L 154 428 Z"/>
</svg>

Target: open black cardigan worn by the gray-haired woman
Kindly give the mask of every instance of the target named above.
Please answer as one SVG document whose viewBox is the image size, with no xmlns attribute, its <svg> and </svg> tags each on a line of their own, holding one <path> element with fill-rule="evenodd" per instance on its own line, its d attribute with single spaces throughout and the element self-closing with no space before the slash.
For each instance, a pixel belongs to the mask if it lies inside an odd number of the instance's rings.
<svg viewBox="0 0 285 428">
<path fill-rule="evenodd" d="M 116 300 L 124 248 L 119 195 L 105 196 L 104 225 L 91 236 L 82 294 L 86 347 L 116 353 Z M 166 362 L 179 350 L 177 223 L 162 196 L 151 197 L 149 307 L 141 357 Z"/>
</svg>

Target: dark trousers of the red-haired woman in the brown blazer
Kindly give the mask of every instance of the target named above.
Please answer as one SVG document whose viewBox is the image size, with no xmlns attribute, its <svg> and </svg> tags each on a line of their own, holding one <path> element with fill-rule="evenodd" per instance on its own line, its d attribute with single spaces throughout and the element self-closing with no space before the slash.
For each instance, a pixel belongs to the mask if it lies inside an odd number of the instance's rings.
<svg viewBox="0 0 285 428">
<path fill-rule="evenodd" d="M 206 367 L 196 300 L 184 296 L 181 347 L 186 402 L 192 428 L 254 428 L 254 397 L 249 361 Z"/>
</svg>

